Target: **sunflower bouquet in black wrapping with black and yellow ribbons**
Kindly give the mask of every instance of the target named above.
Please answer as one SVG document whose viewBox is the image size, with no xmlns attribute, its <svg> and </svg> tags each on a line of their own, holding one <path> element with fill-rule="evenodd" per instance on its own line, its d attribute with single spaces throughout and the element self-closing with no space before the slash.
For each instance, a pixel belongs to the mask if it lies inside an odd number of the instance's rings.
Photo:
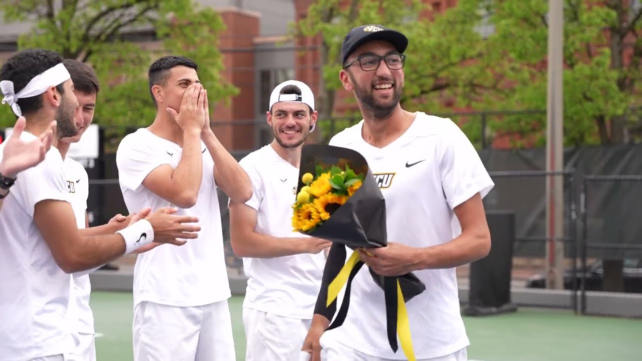
<svg viewBox="0 0 642 361">
<path fill-rule="evenodd" d="M 356 249 L 385 247 L 385 198 L 365 158 L 358 152 L 330 145 L 304 145 L 299 167 L 297 198 L 293 202 L 295 232 L 333 242 L 325 262 L 317 312 L 333 319 L 336 299 L 345 286 L 341 309 L 327 330 L 340 327 L 349 307 L 352 279 L 364 265 Z M 347 248 L 353 250 L 346 261 Z M 369 269 L 370 270 L 370 269 Z M 388 342 L 399 342 L 408 360 L 415 360 L 405 303 L 426 289 L 412 273 L 383 277 L 370 270 L 384 291 Z"/>
</svg>

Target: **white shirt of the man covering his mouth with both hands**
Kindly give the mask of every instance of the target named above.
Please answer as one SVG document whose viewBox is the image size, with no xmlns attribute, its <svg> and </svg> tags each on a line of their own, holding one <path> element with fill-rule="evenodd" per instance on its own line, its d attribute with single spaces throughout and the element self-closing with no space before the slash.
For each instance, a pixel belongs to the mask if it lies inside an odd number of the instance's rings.
<svg viewBox="0 0 642 361">
<path fill-rule="evenodd" d="M 141 301 L 169 306 L 202 306 L 230 297 L 225 266 L 221 213 L 214 184 L 214 161 L 201 141 L 203 175 L 195 206 L 178 209 L 177 215 L 196 216 L 198 238 L 180 247 L 160 245 L 139 254 L 134 267 L 134 306 Z M 176 207 L 143 186 L 155 168 L 178 166 L 182 148 L 155 136 L 146 128 L 128 134 L 116 152 L 116 164 L 123 199 L 129 213 L 144 207 L 152 212 Z"/>
</svg>

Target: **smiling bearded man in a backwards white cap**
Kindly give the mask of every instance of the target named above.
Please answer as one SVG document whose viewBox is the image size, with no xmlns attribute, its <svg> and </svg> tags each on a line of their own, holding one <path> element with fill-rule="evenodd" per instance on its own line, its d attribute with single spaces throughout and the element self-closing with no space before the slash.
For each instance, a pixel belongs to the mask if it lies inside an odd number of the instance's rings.
<svg viewBox="0 0 642 361">
<path fill-rule="evenodd" d="M 314 95 L 288 80 L 272 91 L 266 116 L 274 140 L 239 162 L 252 180 L 252 198 L 229 203 L 232 249 L 248 277 L 245 360 L 298 360 L 321 284 L 321 251 L 331 245 L 293 232 L 290 221 L 301 148 L 317 123 Z"/>
</svg>

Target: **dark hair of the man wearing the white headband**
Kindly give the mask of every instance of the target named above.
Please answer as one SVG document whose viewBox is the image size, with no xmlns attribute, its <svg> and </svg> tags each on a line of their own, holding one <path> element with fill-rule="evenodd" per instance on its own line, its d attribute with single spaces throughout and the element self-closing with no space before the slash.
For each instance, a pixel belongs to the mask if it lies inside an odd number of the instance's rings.
<svg viewBox="0 0 642 361">
<path fill-rule="evenodd" d="M 45 49 L 25 49 L 10 57 L 0 69 L 0 80 L 13 82 L 13 91 L 19 92 L 29 84 L 31 79 L 47 69 L 62 63 L 62 55 Z M 56 85 L 60 94 L 64 94 L 62 84 Z M 17 101 L 22 114 L 31 114 L 42 108 L 42 94 L 21 98 Z"/>
</svg>

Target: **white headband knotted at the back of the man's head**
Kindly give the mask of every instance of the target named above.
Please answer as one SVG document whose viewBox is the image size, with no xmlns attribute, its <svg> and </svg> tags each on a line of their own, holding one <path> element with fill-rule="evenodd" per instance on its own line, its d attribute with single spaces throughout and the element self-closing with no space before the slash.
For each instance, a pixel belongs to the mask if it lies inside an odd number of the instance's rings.
<svg viewBox="0 0 642 361">
<path fill-rule="evenodd" d="M 59 63 L 34 76 L 18 94 L 13 91 L 13 82 L 11 80 L 3 80 L 0 82 L 0 90 L 4 94 L 2 103 L 10 105 L 15 115 L 22 116 L 22 111 L 18 105 L 19 99 L 40 95 L 46 92 L 49 87 L 55 87 L 69 79 L 71 79 L 69 71 L 62 63 Z"/>
</svg>

